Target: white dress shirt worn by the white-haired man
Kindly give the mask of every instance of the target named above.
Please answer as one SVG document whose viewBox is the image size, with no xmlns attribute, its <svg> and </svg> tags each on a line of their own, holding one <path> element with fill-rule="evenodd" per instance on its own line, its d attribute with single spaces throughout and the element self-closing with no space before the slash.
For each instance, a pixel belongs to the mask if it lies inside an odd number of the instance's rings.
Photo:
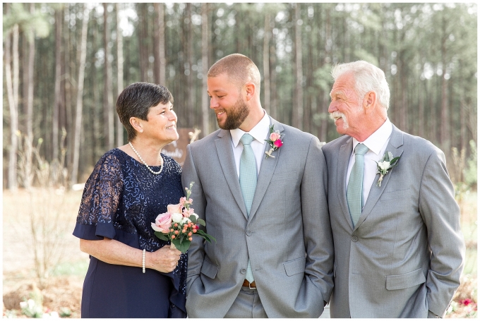
<svg viewBox="0 0 480 321">
<path fill-rule="evenodd" d="M 387 118 L 385 123 L 383 123 L 380 128 L 376 130 L 375 133 L 368 136 L 364 142 L 359 142 L 354 138 L 352 154 L 350 155 L 350 160 L 348 164 L 348 171 L 347 171 L 347 181 L 345 182 L 345 190 L 347 190 L 348 181 L 350 178 L 350 172 L 352 171 L 352 167 L 355 164 L 355 147 L 356 144 L 363 143 L 368 147 L 368 152 L 366 152 L 364 156 L 364 204 L 361 205 L 363 208 L 366 200 L 368 198 L 368 194 L 370 193 L 370 188 L 375 180 L 375 176 L 377 174 L 377 163 L 380 159 L 383 158 L 385 154 L 385 150 L 387 149 L 388 142 L 390 141 L 390 135 L 392 134 L 392 123 L 390 123 L 390 119 Z"/>
</svg>

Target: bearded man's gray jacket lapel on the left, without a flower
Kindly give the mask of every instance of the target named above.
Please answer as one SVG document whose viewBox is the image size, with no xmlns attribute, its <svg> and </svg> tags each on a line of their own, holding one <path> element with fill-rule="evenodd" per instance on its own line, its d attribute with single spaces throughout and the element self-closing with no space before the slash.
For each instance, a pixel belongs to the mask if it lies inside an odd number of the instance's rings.
<svg viewBox="0 0 480 321">
<path fill-rule="evenodd" d="M 244 198 L 241 195 L 239 176 L 236 174 L 234 152 L 232 150 L 232 137 L 229 131 L 221 130 L 218 134 L 219 139 L 215 140 L 217 147 L 218 159 L 222 166 L 223 175 L 227 180 L 228 186 L 234 195 L 236 204 L 239 205 L 241 212 L 244 213 L 245 219 L 248 219 Z M 257 186 L 258 188 L 258 186 Z"/>
</svg>

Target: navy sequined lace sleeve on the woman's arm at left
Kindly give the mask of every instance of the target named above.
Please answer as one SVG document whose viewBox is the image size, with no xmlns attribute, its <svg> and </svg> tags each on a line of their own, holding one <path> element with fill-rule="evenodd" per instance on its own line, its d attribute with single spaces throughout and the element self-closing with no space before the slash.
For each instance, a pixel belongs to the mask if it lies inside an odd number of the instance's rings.
<svg viewBox="0 0 480 321">
<path fill-rule="evenodd" d="M 114 238 L 114 214 L 124 188 L 119 159 L 108 153 L 95 165 L 83 190 L 73 235 L 90 240 Z"/>
</svg>

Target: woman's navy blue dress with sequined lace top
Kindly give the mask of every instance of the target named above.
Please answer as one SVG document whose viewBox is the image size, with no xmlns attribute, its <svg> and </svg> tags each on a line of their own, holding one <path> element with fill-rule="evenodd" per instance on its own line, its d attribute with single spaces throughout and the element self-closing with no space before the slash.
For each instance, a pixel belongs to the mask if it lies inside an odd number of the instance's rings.
<svg viewBox="0 0 480 321">
<path fill-rule="evenodd" d="M 103 155 L 85 184 L 73 235 L 113 238 L 150 252 L 167 244 L 153 234 L 151 223 L 184 192 L 179 164 L 162 157 L 163 171 L 154 175 L 118 148 Z M 173 272 L 145 269 L 145 274 L 141 267 L 112 265 L 90 256 L 82 317 L 186 317 L 186 267 L 184 254 Z"/>
</svg>

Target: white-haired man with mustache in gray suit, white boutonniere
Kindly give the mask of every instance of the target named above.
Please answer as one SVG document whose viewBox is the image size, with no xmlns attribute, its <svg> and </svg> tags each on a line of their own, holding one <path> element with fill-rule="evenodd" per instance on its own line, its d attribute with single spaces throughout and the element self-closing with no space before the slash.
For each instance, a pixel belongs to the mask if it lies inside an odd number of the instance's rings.
<svg viewBox="0 0 480 321">
<path fill-rule="evenodd" d="M 445 155 L 390 123 L 379 68 L 344 63 L 332 77 L 328 111 L 345 135 L 322 148 L 335 244 L 330 315 L 443 317 L 464 265 Z"/>
</svg>

